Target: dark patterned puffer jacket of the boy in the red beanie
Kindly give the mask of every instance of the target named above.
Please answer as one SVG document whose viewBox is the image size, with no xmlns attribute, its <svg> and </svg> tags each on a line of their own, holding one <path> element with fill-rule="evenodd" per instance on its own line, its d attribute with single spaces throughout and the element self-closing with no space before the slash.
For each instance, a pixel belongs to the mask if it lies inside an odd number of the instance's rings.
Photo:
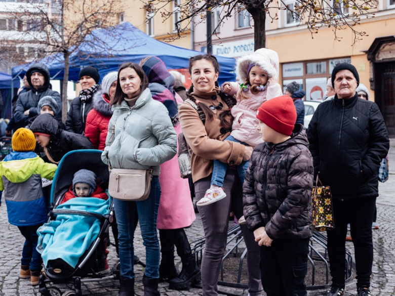
<svg viewBox="0 0 395 296">
<path fill-rule="evenodd" d="M 306 130 L 291 139 L 254 148 L 243 185 L 244 217 L 251 231 L 265 227 L 271 239 L 312 236 L 313 161 Z"/>
</svg>

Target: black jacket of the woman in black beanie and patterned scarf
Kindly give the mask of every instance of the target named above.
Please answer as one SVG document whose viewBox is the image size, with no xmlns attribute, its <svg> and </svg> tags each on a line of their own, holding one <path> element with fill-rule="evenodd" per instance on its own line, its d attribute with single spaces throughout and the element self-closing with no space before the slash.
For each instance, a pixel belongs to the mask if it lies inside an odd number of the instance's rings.
<svg viewBox="0 0 395 296">
<path fill-rule="evenodd" d="M 97 93 L 98 91 L 101 91 L 100 85 L 95 93 Z M 85 124 L 87 122 L 87 116 L 89 111 L 91 111 L 93 108 L 92 98 L 95 95 L 95 93 L 93 93 L 92 97 L 86 101 L 85 106 L 81 102 L 80 97 L 76 97 L 71 101 L 70 109 L 68 109 L 67 119 L 66 119 L 67 132 L 80 134 L 80 135 L 82 135 L 85 132 Z"/>
</svg>

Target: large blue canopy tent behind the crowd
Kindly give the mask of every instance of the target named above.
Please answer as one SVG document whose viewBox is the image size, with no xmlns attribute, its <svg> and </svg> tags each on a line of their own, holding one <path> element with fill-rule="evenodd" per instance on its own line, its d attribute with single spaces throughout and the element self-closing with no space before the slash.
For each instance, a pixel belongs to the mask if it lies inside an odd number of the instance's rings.
<svg viewBox="0 0 395 296">
<path fill-rule="evenodd" d="M 122 63 L 138 63 L 148 56 L 156 56 L 168 69 L 187 69 L 189 58 L 202 54 L 149 37 L 129 22 L 115 26 L 110 34 L 105 29 L 94 30 L 86 40 L 86 43 L 70 55 L 69 80 L 71 81 L 77 81 L 81 67 L 88 65 L 98 68 L 100 76 L 103 77 L 106 73 L 117 70 Z M 234 81 L 235 60 L 219 56 L 217 59 L 220 65 L 219 83 Z M 63 78 L 64 60 L 61 54 L 39 62 L 48 66 L 52 79 Z M 23 75 L 31 64 L 14 67 L 13 76 Z"/>
</svg>

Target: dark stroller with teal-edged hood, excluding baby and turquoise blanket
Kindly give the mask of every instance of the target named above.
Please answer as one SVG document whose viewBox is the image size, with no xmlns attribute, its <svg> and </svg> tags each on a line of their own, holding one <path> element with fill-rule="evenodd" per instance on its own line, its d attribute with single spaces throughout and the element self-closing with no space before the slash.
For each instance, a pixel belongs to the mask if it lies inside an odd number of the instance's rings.
<svg viewBox="0 0 395 296">
<path fill-rule="evenodd" d="M 96 176 L 102 180 L 100 186 L 103 190 L 108 188 L 108 166 L 102 162 L 101 153 L 102 151 L 100 150 L 71 151 L 63 156 L 58 165 L 51 188 L 51 210 L 48 223 L 56 220 L 56 217 L 59 215 L 71 215 L 71 217 L 77 215 L 81 219 L 88 217 L 88 219 L 94 220 L 95 223 L 96 219 L 100 221 L 100 231 L 97 237 L 92 237 L 92 244 L 90 246 L 88 245 L 83 256 L 78 259 L 75 268 L 67 268 L 65 265 L 62 265 L 61 262 L 56 261 L 54 261 L 53 264 L 48 263 L 50 266 L 45 267 L 47 278 L 44 275 L 39 277 L 39 292 L 42 295 L 81 296 L 81 282 L 102 281 L 115 279 L 117 277 L 116 274 L 107 273 L 103 275 L 99 273 L 99 271 L 102 270 L 100 268 L 103 266 L 103 260 L 105 260 L 105 257 L 103 259 L 103 250 L 101 247 L 103 247 L 103 242 L 107 240 L 108 228 L 113 220 L 113 202 L 111 197 L 109 197 L 108 206 L 107 201 L 104 201 L 106 204 L 104 206 L 103 215 L 94 211 L 90 212 L 89 210 L 62 208 L 63 205 L 66 205 L 69 201 L 59 206 L 64 198 L 64 194 L 69 190 L 72 184 L 74 173 L 82 168 L 93 171 Z M 91 219 L 92 217 L 96 219 Z M 79 218 L 75 217 L 75 219 Z M 71 234 L 71 236 L 73 236 L 73 234 Z M 57 266 L 57 264 L 60 265 Z M 47 283 L 69 283 L 74 285 L 75 290 L 67 290 L 62 293 L 56 286 L 47 287 Z"/>
</svg>

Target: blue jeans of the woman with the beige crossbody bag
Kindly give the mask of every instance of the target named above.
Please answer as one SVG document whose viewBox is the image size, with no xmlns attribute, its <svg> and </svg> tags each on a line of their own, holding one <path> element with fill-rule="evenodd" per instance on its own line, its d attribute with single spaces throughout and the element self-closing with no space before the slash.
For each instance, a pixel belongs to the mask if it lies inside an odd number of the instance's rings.
<svg viewBox="0 0 395 296">
<path fill-rule="evenodd" d="M 132 279 L 134 267 L 134 213 L 137 206 L 141 236 L 145 246 L 145 276 L 147 279 L 159 278 L 159 262 L 161 257 L 159 239 L 156 232 L 157 209 L 161 199 L 159 177 L 153 176 L 151 192 L 143 201 L 124 201 L 114 198 L 115 216 L 118 224 L 119 252 L 121 261 L 121 277 Z"/>
</svg>

